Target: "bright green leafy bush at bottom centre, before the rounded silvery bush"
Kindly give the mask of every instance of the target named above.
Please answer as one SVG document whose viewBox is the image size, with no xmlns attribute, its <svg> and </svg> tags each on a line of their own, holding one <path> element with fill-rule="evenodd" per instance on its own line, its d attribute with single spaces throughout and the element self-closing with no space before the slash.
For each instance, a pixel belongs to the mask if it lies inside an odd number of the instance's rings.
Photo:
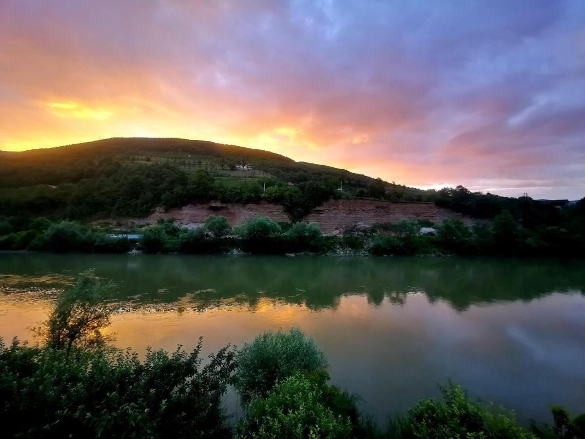
<svg viewBox="0 0 585 439">
<path fill-rule="evenodd" d="M 274 386 L 266 398 L 250 402 L 239 437 L 352 437 L 349 418 L 335 415 L 324 403 L 324 386 L 300 372 L 294 373 Z"/>
</svg>

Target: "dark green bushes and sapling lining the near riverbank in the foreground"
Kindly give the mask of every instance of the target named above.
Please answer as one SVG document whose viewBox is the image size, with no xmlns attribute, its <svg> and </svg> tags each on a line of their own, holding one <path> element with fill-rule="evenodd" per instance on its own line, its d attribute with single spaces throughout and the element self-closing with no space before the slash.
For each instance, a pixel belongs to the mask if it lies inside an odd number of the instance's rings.
<svg viewBox="0 0 585 439">
<path fill-rule="evenodd" d="M 105 336 L 115 285 L 81 273 L 35 334 L 0 344 L 0 421 L 7 437 L 581 438 L 585 415 L 553 406 L 553 425 L 470 400 L 448 382 L 443 400 L 415 404 L 384 429 L 357 396 L 329 383 L 327 360 L 298 328 L 265 332 L 242 348 L 192 352 L 113 348 Z M 233 385 L 245 413 L 222 409 Z M 389 396 L 391 397 L 391 396 Z"/>
</svg>

